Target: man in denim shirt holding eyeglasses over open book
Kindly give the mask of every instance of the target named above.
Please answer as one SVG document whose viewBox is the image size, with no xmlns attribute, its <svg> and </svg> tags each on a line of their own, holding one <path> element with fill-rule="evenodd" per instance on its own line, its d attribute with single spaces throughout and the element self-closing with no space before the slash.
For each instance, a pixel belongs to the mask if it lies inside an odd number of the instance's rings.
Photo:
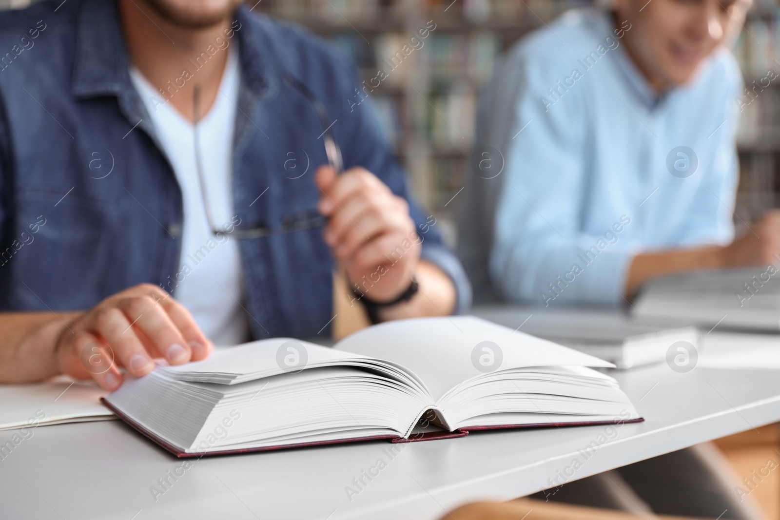
<svg viewBox="0 0 780 520">
<path fill-rule="evenodd" d="M 350 103 L 354 69 L 251 10 L 69 0 L 0 16 L 0 382 L 112 390 L 117 366 L 327 334 L 339 269 L 375 321 L 469 306 L 369 105 Z"/>
</svg>

